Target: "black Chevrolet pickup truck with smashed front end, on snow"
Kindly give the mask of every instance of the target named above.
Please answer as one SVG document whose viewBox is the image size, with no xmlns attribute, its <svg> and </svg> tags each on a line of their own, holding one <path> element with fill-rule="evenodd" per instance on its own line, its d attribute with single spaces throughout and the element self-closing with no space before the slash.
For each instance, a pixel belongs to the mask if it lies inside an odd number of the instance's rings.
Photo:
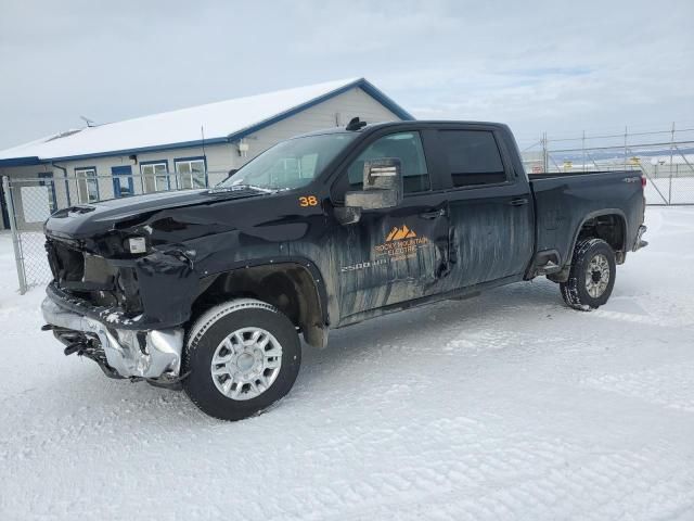
<svg viewBox="0 0 694 521">
<path fill-rule="evenodd" d="M 236 420 L 284 396 L 327 332 L 547 276 L 578 309 L 646 243 L 639 171 L 526 175 L 505 125 L 300 136 L 210 190 L 61 209 L 44 329 L 113 378 Z"/>
</svg>

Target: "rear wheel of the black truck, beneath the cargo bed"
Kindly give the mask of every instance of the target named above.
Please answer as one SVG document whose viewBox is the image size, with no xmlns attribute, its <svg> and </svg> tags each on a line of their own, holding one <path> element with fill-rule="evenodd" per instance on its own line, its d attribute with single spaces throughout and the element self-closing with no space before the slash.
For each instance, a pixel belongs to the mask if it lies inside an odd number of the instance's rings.
<svg viewBox="0 0 694 521">
<path fill-rule="evenodd" d="M 568 280 L 560 283 L 564 302 L 582 312 L 599 308 L 612 294 L 616 272 L 615 252 L 609 244 L 602 239 L 580 240 L 574 250 Z"/>
</svg>

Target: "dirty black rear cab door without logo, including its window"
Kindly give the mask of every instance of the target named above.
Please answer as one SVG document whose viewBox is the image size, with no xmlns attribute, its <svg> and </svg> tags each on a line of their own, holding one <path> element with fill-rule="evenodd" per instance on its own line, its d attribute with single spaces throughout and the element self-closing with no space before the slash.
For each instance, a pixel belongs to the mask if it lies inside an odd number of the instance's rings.
<svg viewBox="0 0 694 521">
<path fill-rule="evenodd" d="M 453 268 L 446 289 L 523 274 L 534 249 L 532 195 L 501 135 L 484 125 L 437 134 L 451 219 Z"/>
</svg>

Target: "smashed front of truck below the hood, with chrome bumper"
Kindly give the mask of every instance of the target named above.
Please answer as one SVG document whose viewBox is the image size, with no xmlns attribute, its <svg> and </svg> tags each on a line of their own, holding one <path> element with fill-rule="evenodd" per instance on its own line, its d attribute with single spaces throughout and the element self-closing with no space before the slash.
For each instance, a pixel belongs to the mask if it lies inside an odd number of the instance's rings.
<svg viewBox="0 0 694 521">
<path fill-rule="evenodd" d="M 41 306 L 43 329 L 65 354 L 94 360 L 111 378 L 180 386 L 182 325 L 197 288 L 192 252 L 105 258 L 55 238 L 47 250 L 54 280 Z"/>
</svg>

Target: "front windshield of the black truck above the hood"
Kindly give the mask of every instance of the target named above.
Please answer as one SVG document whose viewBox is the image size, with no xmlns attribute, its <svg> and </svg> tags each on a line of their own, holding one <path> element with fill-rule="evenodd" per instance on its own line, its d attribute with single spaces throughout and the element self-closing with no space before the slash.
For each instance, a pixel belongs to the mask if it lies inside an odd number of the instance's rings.
<svg viewBox="0 0 694 521">
<path fill-rule="evenodd" d="M 274 191 L 304 187 L 320 176 L 357 136 L 357 132 L 337 132 L 283 141 L 244 165 L 215 189 L 249 187 Z"/>
</svg>

